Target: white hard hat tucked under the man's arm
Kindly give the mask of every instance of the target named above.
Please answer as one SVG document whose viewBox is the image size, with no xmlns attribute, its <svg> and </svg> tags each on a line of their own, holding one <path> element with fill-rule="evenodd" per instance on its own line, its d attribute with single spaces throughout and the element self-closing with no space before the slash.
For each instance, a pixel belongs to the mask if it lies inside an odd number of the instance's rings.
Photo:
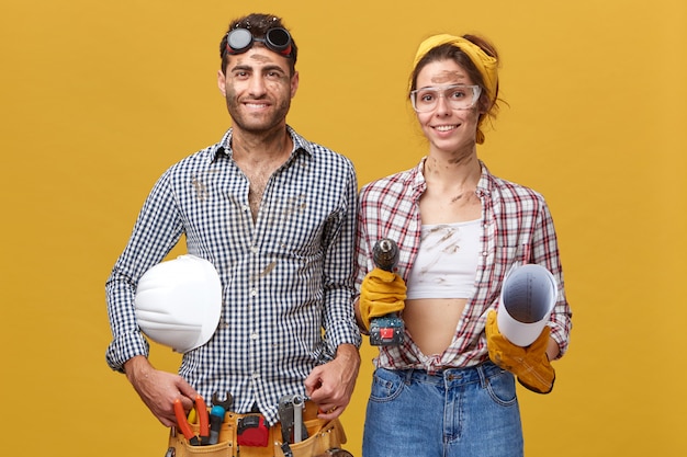
<svg viewBox="0 0 687 457">
<path fill-rule="evenodd" d="M 138 327 L 150 340 L 185 353 L 214 334 L 222 312 L 222 283 L 209 261 L 180 255 L 140 277 L 134 304 Z"/>
</svg>

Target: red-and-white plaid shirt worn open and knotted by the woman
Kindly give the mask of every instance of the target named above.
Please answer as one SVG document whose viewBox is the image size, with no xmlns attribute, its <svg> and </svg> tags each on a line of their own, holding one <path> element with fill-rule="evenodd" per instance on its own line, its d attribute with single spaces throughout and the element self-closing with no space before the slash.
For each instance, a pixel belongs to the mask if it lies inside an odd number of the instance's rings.
<svg viewBox="0 0 687 457">
<path fill-rule="evenodd" d="M 469 299 L 451 345 L 443 354 L 425 355 L 407 338 L 404 345 L 382 346 L 375 365 L 391 369 L 469 367 L 488 358 L 484 327 L 489 309 L 496 307 L 506 274 L 511 267 L 537 263 L 556 278 L 559 296 L 549 325 L 561 355 L 567 349 L 572 327 L 565 298 L 563 272 L 551 214 L 537 192 L 491 174 L 482 163 L 476 194 L 482 201 L 481 256 L 475 277 L 476 292 Z M 398 243 L 397 273 L 404 281 L 420 248 L 419 198 L 427 184 L 423 175 L 425 159 L 415 169 L 365 185 L 360 192 L 358 210 L 358 275 L 362 279 L 373 267 L 372 247 L 381 238 Z"/>
</svg>

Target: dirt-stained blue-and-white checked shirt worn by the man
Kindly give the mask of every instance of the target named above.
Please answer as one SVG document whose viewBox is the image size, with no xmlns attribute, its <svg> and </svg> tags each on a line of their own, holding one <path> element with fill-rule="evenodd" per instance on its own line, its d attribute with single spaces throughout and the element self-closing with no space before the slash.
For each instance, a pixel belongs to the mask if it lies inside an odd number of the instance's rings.
<svg viewBox="0 0 687 457">
<path fill-rule="evenodd" d="M 148 355 L 134 313 L 136 285 L 182 235 L 190 254 L 214 264 L 223 286 L 214 336 L 184 354 L 179 370 L 203 398 L 228 391 L 236 412 L 257 403 L 274 423 L 282 396 L 304 393 L 303 380 L 340 344 L 360 345 L 352 163 L 288 130 L 293 152 L 270 178 L 255 224 L 248 180 L 232 158 L 232 129 L 155 184 L 106 284 L 113 369 Z"/>
</svg>

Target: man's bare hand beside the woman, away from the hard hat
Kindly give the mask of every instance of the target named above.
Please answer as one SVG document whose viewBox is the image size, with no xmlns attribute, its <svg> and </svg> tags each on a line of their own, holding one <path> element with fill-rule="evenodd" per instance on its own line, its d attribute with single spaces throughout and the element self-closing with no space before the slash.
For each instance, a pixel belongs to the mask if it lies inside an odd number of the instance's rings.
<svg viewBox="0 0 687 457">
<path fill-rule="evenodd" d="M 319 407 L 324 420 L 338 418 L 348 405 L 360 369 L 360 354 L 352 344 L 341 344 L 336 358 L 316 366 L 305 379 L 305 393 Z"/>
</svg>

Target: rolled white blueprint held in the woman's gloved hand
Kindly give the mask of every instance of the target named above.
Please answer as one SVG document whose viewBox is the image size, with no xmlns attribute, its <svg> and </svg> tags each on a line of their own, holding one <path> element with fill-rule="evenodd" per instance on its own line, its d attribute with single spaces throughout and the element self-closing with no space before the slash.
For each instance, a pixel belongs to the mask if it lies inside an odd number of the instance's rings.
<svg viewBox="0 0 687 457">
<path fill-rule="evenodd" d="M 518 346 L 529 346 L 541 334 L 558 299 L 555 278 L 541 265 L 513 270 L 500 292 L 498 330 Z"/>
</svg>

